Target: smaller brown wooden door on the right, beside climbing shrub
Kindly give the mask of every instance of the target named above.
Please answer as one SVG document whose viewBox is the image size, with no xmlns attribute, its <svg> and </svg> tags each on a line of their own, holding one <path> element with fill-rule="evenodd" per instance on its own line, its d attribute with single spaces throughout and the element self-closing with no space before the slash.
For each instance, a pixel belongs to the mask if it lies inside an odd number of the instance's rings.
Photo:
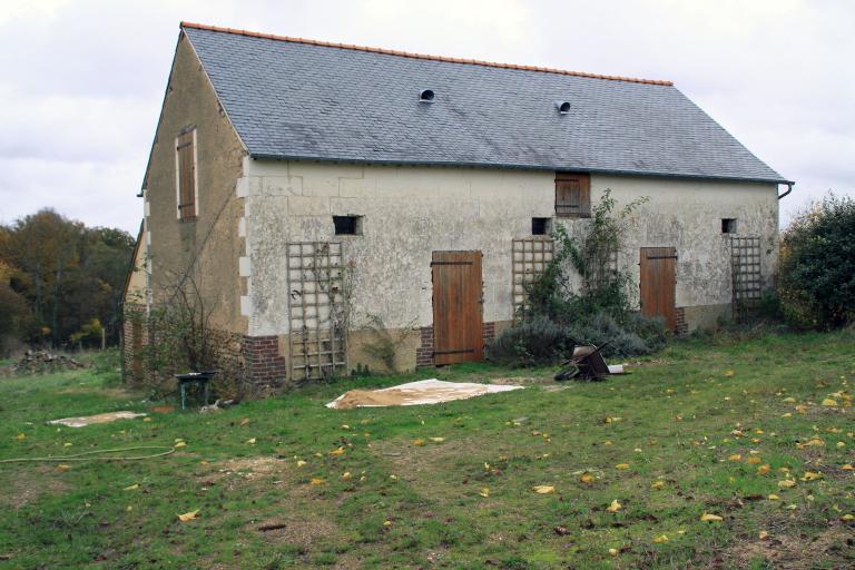
<svg viewBox="0 0 855 570">
<path fill-rule="evenodd" d="M 665 326 L 674 331 L 677 325 L 675 288 L 677 285 L 677 249 L 674 247 L 642 247 L 639 287 L 641 314 L 661 316 Z"/>
</svg>

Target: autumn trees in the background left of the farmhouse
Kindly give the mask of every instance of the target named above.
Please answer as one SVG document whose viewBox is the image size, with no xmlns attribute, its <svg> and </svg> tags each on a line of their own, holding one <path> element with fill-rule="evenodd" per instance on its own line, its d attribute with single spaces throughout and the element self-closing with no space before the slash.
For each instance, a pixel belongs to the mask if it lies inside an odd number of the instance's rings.
<svg viewBox="0 0 855 570">
<path fill-rule="evenodd" d="M 135 238 L 52 209 L 0 225 L 0 354 L 118 342 Z"/>
</svg>

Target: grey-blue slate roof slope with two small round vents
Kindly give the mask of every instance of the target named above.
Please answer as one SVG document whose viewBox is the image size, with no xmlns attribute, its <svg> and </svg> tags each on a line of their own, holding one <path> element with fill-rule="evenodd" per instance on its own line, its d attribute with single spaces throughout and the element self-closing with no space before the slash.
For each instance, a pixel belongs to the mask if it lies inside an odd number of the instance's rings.
<svg viewBox="0 0 855 570">
<path fill-rule="evenodd" d="M 667 81 L 181 29 L 256 158 L 787 181 Z"/>
</svg>

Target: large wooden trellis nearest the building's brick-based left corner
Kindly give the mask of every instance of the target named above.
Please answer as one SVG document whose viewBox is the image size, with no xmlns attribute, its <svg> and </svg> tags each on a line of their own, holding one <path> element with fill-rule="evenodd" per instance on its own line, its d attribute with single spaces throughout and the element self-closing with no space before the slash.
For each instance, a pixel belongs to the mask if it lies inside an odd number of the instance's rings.
<svg viewBox="0 0 855 570">
<path fill-rule="evenodd" d="M 344 266 L 338 242 L 287 246 L 288 367 L 295 382 L 347 370 Z"/>
</svg>

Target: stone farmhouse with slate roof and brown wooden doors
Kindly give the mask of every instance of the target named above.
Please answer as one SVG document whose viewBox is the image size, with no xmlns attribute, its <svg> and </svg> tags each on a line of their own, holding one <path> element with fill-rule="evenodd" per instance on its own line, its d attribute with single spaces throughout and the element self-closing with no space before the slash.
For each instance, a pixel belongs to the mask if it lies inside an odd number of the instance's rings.
<svg viewBox="0 0 855 570">
<path fill-rule="evenodd" d="M 613 263 L 679 333 L 770 284 L 792 186 L 669 81 L 181 23 L 126 312 L 193 278 L 265 389 L 382 368 L 377 334 L 402 370 L 479 360 L 610 189 L 649 198 Z M 149 342 L 128 320 L 127 374 Z"/>
</svg>

